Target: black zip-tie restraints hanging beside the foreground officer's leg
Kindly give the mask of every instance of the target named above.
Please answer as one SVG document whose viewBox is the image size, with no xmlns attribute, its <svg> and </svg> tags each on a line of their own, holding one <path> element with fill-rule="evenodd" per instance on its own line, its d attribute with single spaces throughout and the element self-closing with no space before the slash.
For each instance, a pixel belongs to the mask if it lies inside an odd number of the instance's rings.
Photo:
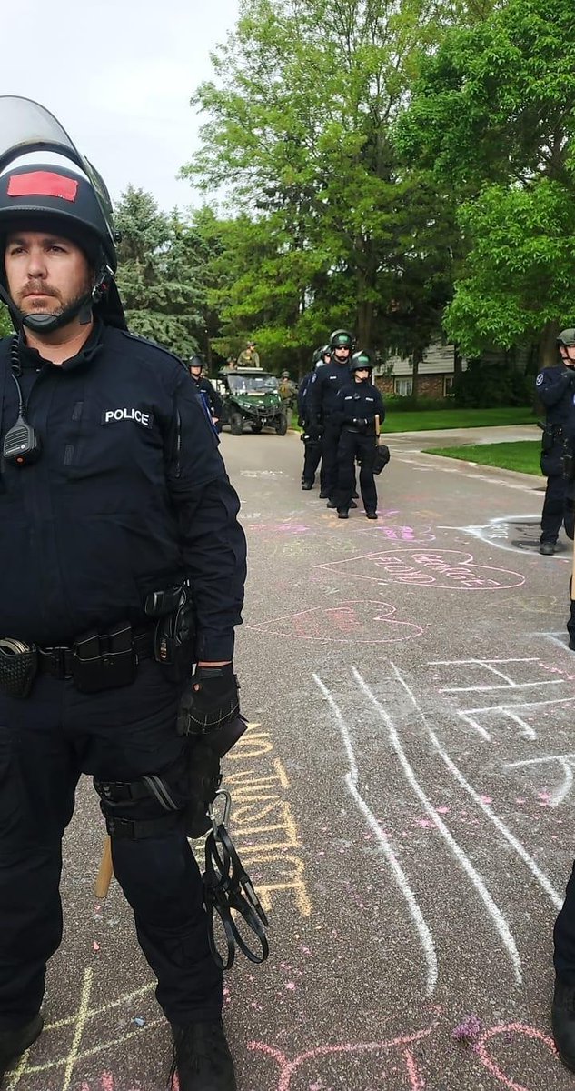
<svg viewBox="0 0 575 1091">
<path fill-rule="evenodd" d="M 208 914 L 210 951 L 220 970 L 230 970 L 234 962 L 236 947 L 250 962 L 266 961 L 269 955 L 265 931 L 268 926 L 268 918 L 225 828 L 230 816 L 230 793 L 220 789 L 216 799 L 218 796 L 224 802 L 223 819 L 218 823 L 213 806 L 210 804 L 208 815 L 211 820 L 211 830 L 206 840 L 206 871 L 201 877 L 204 880 L 204 902 Z M 225 960 L 220 955 L 216 942 L 215 914 L 219 918 L 225 934 L 228 944 Z M 253 950 L 246 943 L 238 927 L 240 919 L 256 936 L 260 950 Z"/>
</svg>

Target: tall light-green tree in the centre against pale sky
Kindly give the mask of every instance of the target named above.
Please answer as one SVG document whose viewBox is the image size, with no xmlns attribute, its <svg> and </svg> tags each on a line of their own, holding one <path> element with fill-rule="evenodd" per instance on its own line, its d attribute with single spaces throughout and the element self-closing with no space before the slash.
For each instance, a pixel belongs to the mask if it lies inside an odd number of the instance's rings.
<svg viewBox="0 0 575 1091">
<path fill-rule="evenodd" d="M 183 171 L 206 191 L 223 187 L 249 220 L 224 286 L 229 334 L 249 328 L 270 351 L 308 353 L 354 325 L 364 346 L 416 352 L 439 329 L 453 216 L 391 139 L 416 47 L 435 47 L 439 15 L 453 17 L 448 4 L 428 10 L 246 0 L 213 57 L 216 80 L 192 100 L 208 120 Z"/>
</svg>

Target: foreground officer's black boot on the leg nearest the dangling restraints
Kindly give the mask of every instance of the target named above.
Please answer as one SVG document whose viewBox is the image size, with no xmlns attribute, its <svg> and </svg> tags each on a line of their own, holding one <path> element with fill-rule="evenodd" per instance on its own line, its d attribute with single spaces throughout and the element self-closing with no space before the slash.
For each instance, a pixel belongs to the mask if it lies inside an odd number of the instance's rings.
<svg viewBox="0 0 575 1091">
<path fill-rule="evenodd" d="M 237 1091 L 232 1055 L 220 1019 L 212 1022 L 171 1023 L 173 1065 L 180 1091 Z"/>
</svg>

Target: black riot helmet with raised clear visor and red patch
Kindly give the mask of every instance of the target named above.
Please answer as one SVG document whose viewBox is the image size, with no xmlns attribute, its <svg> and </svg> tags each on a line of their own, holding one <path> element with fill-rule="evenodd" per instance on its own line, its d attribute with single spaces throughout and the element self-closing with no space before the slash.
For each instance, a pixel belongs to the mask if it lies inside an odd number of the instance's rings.
<svg viewBox="0 0 575 1091">
<path fill-rule="evenodd" d="M 56 153 L 75 169 L 57 161 L 12 166 L 40 151 Z M 81 247 L 93 273 L 89 292 L 59 315 L 23 314 L 9 295 L 3 264 L 5 237 L 14 230 L 51 231 Z M 60 122 L 32 99 L 0 96 L 0 298 L 15 327 L 50 333 L 76 315 L 89 321 L 94 312 L 106 324 L 125 329 L 113 278 L 117 239 L 108 190 Z"/>
</svg>

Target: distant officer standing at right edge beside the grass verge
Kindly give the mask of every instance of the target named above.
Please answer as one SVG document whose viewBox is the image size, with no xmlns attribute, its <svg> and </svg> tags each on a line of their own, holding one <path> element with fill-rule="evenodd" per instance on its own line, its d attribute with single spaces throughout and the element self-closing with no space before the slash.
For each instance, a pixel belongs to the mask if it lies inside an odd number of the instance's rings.
<svg viewBox="0 0 575 1091">
<path fill-rule="evenodd" d="M 555 552 L 563 523 L 565 479 L 563 447 L 565 427 L 575 418 L 575 329 L 564 329 L 558 337 L 559 362 L 545 368 L 536 379 L 537 397 L 546 408 L 546 424 L 541 439 L 541 472 L 547 488 L 541 514 L 539 552 L 550 556 Z"/>
</svg>

